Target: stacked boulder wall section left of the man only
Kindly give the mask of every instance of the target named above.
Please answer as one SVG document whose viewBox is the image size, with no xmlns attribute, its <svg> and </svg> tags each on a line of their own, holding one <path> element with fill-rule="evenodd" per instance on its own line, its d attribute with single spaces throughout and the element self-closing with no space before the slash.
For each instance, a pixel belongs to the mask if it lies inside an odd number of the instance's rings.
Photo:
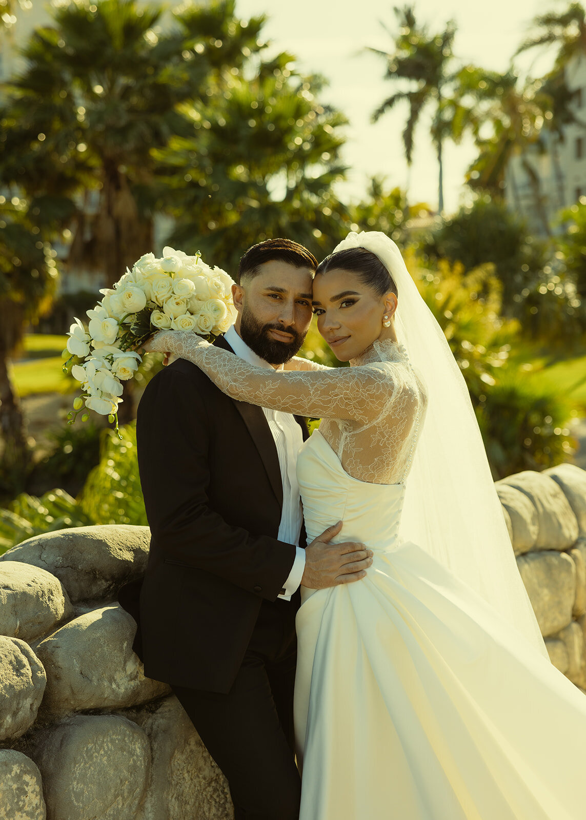
<svg viewBox="0 0 586 820">
<path fill-rule="evenodd" d="M 149 529 L 39 535 L 0 557 L 0 820 L 231 820 L 222 772 L 144 677 L 117 590 Z"/>
</svg>

